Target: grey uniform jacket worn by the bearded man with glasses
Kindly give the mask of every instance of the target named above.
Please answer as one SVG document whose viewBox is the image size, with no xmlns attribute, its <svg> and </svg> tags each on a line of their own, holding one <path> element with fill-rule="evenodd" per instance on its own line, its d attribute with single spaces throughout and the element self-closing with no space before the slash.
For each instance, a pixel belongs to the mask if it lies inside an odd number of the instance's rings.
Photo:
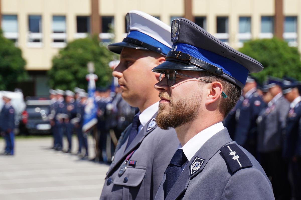
<svg viewBox="0 0 301 200">
<path fill-rule="evenodd" d="M 155 200 L 164 199 L 165 180 L 166 175 Z M 271 182 L 260 164 L 248 151 L 232 141 L 227 128 L 224 128 L 212 136 L 186 165 L 166 196 L 166 200 L 175 199 L 275 198 Z"/>
</svg>

